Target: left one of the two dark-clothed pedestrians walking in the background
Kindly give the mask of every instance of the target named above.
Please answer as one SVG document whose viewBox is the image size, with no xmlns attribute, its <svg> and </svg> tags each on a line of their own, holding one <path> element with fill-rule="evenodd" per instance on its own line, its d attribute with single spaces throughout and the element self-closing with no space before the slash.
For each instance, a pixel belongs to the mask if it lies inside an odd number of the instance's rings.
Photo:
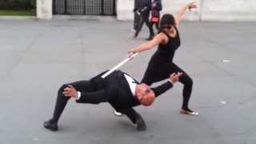
<svg viewBox="0 0 256 144">
<path fill-rule="evenodd" d="M 150 30 L 149 38 L 146 40 L 150 40 L 154 37 L 153 29 L 150 28 L 150 10 L 151 10 L 151 0 L 136 0 L 134 4 L 134 13 L 139 16 L 138 25 L 136 26 L 136 30 L 134 33 L 134 38 L 138 37 L 139 32 L 142 30 L 142 26 L 146 23 L 146 26 Z"/>
</svg>

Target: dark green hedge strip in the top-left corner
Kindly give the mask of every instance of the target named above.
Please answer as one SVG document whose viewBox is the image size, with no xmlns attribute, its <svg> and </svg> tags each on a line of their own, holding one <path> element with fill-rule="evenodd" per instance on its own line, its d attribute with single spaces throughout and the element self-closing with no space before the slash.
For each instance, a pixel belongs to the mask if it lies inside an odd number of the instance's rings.
<svg viewBox="0 0 256 144">
<path fill-rule="evenodd" d="M 36 0 L 0 0 L 0 10 L 34 10 Z"/>
</svg>

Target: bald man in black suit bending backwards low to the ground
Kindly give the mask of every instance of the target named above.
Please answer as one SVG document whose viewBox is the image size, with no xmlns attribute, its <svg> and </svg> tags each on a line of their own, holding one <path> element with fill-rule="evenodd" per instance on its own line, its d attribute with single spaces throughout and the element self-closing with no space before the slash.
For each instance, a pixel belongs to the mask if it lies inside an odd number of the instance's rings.
<svg viewBox="0 0 256 144">
<path fill-rule="evenodd" d="M 106 72 L 102 74 L 104 73 Z M 137 130 L 146 130 L 146 124 L 142 116 L 132 107 L 150 106 L 154 102 L 154 98 L 169 90 L 173 83 L 178 81 L 182 73 L 170 74 L 168 82 L 152 89 L 144 83 L 139 84 L 134 78 L 121 70 L 115 70 L 106 78 L 102 78 L 102 74 L 98 74 L 89 81 L 72 82 L 61 86 L 58 90 L 53 117 L 44 122 L 44 127 L 48 130 L 57 131 L 58 119 L 66 103 L 70 98 L 75 98 L 78 103 L 98 104 L 109 102 L 115 110 L 126 114 L 134 124 L 137 124 Z"/>
</svg>

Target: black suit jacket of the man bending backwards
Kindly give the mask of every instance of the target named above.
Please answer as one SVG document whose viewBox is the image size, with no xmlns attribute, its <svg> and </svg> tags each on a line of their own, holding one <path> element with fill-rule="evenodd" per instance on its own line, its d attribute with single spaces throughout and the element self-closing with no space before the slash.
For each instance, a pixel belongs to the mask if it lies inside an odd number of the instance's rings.
<svg viewBox="0 0 256 144">
<path fill-rule="evenodd" d="M 98 74 L 98 76 L 90 79 L 90 85 L 94 86 L 94 90 L 102 90 L 101 93 L 94 95 L 94 98 L 98 98 L 98 102 L 109 102 L 115 110 L 123 110 L 140 105 L 137 97 L 131 93 L 130 86 L 124 76 L 126 73 L 121 70 L 115 70 L 106 78 L 101 78 L 102 74 Z M 137 81 L 135 80 L 135 82 Z M 172 87 L 172 84 L 165 82 L 152 90 L 154 90 L 155 95 L 158 96 L 166 90 L 169 90 L 170 87 Z M 88 94 L 82 94 L 77 102 L 86 102 L 86 97 L 88 97 Z"/>
</svg>

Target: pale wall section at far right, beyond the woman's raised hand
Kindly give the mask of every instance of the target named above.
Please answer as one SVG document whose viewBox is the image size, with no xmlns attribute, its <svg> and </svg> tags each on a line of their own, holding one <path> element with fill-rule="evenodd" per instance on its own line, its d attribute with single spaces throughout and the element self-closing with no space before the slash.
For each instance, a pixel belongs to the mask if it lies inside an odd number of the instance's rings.
<svg viewBox="0 0 256 144">
<path fill-rule="evenodd" d="M 202 0 L 202 20 L 255 21 L 255 0 Z"/>
</svg>

